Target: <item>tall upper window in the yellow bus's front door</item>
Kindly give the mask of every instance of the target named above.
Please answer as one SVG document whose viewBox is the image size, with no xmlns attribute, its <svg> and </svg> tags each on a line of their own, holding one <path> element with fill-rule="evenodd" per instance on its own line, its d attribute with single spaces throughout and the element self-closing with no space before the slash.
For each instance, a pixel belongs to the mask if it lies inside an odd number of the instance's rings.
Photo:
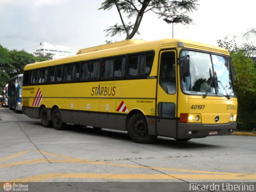
<svg viewBox="0 0 256 192">
<path fill-rule="evenodd" d="M 173 51 L 161 54 L 159 83 L 166 93 L 176 93 L 175 52 Z"/>
</svg>

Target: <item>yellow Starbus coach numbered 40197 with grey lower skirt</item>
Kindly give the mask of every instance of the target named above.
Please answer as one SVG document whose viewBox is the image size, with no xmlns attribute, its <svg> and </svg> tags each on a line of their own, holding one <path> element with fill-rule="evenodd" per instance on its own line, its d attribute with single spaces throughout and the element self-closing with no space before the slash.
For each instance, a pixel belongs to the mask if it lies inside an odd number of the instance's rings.
<svg viewBox="0 0 256 192">
<path fill-rule="evenodd" d="M 228 51 L 187 40 L 125 40 L 24 67 L 22 111 L 45 127 L 127 131 L 186 141 L 236 128 Z"/>
</svg>

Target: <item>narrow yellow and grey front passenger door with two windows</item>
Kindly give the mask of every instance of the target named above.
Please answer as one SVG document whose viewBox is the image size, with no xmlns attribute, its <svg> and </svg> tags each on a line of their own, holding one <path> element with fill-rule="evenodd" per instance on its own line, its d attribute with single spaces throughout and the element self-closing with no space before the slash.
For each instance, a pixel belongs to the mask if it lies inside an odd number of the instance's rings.
<svg viewBox="0 0 256 192">
<path fill-rule="evenodd" d="M 157 134 L 176 136 L 176 50 L 160 52 L 157 88 Z"/>
</svg>

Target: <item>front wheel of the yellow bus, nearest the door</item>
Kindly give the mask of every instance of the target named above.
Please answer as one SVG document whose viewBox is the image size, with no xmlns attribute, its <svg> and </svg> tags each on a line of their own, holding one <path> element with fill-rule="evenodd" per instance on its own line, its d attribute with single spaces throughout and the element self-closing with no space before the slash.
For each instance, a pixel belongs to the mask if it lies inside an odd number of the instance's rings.
<svg viewBox="0 0 256 192">
<path fill-rule="evenodd" d="M 146 118 L 140 112 L 133 114 L 129 119 L 128 134 L 134 142 L 143 144 L 149 144 L 157 137 L 148 134 L 148 124 L 146 122 Z"/>
</svg>

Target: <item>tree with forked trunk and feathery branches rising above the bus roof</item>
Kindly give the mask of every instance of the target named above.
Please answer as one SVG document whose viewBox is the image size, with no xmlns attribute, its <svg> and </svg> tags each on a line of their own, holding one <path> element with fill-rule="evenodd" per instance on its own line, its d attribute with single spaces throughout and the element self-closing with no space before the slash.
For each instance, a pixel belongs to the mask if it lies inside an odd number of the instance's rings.
<svg viewBox="0 0 256 192">
<path fill-rule="evenodd" d="M 111 34 L 126 34 L 126 40 L 131 39 L 140 27 L 142 18 L 146 12 L 154 12 L 158 18 L 164 18 L 167 23 L 192 24 L 192 19 L 188 13 L 197 10 L 198 0 L 105 0 L 99 10 L 110 10 L 116 7 L 120 16 L 122 25 L 116 23 L 114 26 L 104 30 Z M 127 14 L 127 18 L 135 17 L 134 23 L 125 24 L 123 14 Z"/>
</svg>

